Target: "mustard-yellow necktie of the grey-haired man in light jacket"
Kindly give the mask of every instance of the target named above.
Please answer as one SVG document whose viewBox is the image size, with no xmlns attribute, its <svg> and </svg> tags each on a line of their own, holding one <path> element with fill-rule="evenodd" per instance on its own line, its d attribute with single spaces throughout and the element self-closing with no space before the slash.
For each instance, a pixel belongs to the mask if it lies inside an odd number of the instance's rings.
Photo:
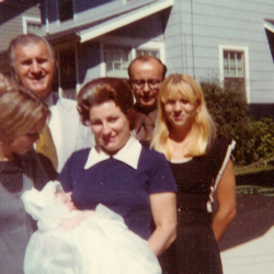
<svg viewBox="0 0 274 274">
<path fill-rule="evenodd" d="M 57 170 L 58 158 L 53 136 L 50 134 L 48 126 L 46 126 L 45 129 L 39 134 L 39 139 L 35 144 L 35 150 L 37 153 L 41 153 L 48 160 L 50 160 L 53 167 L 55 168 L 55 170 Z"/>
</svg>

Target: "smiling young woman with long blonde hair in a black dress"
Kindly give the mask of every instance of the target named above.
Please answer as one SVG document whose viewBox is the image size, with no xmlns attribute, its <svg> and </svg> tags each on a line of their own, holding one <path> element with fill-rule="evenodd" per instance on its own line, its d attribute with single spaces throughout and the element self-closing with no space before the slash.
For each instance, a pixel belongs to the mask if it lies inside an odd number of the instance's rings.
<svg viewBox="0 0 274 274">
<path fill-rule="evenodd" d="M 169 160 L 179 192 L 178 238 L 162 258 L 163 273 L 222 273 L 217 242 L 236 215 L 235 141 L 216 138 L 202 89 L 190 76 L 164 80 L 158 110 L 151 146 Z M 212 220 L 214 191 L 218 210 Z"/>
</svg>

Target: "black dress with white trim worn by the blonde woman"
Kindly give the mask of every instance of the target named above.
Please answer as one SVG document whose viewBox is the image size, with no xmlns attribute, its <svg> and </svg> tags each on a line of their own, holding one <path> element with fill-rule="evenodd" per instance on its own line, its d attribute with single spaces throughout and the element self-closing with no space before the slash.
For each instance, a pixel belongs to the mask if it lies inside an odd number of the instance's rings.
<svg viewBox="0 0 274 274">
<path fill-rule="evenodd" d="M 212 150 L 170 162 L 178 184 L 178 238 L 160 258 L 163 274 L 221 274 L 212 229 L 212 202 L 235 141 L 217 139 Z"/>
</svg>

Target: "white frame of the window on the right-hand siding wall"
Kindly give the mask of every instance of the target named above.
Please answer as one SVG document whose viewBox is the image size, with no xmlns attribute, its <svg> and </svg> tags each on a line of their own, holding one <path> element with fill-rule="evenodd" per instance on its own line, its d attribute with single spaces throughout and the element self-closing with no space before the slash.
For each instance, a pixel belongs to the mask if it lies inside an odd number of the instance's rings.
<svg viewBox="0 0 274 274">
<path fill-rule="evenodd" d="M 226 78 L 225 71 L 224 71 L 224 53 L 225 52 L 233 52 L 233 53 L 239 52 L 243 54 L 243 77 L 235 77 L 235 78 L 244 78 L 246 98 L 247 98 L 247 102 L 250 103 L 249 47 L 238 46 L 238 45 L 219 45 L 219 82 L 222 88 L 224 88 L 225 78 Z"/>
</svg>

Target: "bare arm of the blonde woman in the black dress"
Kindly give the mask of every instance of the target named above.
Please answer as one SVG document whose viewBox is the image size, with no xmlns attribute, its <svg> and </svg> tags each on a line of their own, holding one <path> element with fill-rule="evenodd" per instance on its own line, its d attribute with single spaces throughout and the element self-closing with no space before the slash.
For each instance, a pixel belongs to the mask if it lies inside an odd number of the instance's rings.
<svg viewBox="0 0 274 274">
<path fill-rule="evenodd" d="M 213 220 L 213 231 L 218 242 L 236 215 L 236 181 L 231 160 L 227 163 L 216 194 L 218 210 Z"/>
</svg>

